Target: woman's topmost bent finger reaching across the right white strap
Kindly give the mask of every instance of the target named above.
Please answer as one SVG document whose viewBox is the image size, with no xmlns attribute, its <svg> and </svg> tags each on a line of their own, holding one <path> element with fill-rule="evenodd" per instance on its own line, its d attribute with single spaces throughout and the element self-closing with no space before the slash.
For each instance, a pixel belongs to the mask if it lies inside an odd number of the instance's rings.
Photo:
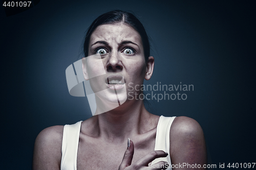
<svg viewBox="0 0 256 170">
<path fill-rule="evenodd" d="M 152 151 L 149 154 L 146 154 L 143 158 L 139 159 L 136 164 L 139 166 L 147 166 L 148 163 L 152 162 L 156 158 L 166 157 L 167 152 L 164 151 Z"/>
</svg>

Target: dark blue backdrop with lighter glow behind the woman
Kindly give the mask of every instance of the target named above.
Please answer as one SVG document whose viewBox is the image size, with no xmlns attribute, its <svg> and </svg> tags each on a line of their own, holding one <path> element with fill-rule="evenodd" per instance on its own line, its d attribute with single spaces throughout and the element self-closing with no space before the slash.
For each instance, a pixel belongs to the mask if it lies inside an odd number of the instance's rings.
<svg viewBox="0 0 256 170">
<path fill-rule="evenodd" d="M 196 119 L 217 166 L 255 162 L 253 2 L 42 0 L 9 17 L 0 7 L 1 169 L 31 169 L 42 129 L 91 116 L 87 98 L 69 94 L 65 70 L 91 22 L 115 9 L 133 11 L 152 38 L 146 84 L 194 85 L 187 100 L 151 101 L 151 111 Z"/>
</svg>

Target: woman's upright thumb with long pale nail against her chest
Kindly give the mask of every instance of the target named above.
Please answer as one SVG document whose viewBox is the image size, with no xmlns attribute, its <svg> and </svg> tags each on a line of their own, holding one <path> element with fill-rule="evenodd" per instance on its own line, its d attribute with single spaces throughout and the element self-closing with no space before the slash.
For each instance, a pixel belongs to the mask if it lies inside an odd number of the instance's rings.
<svg viewBox="0 0 256 170">
<path fill-rule="evenodd" d="M 133 154 L 134 154 L 134 144 L 133 144 L 133 141 L 128 138 L 128 143 L 129 141 L 130 141 L 130 147 L 127 147 L 123 156 L 123 160 L 118 170 L 122 170 L 125 167 L 130 166 L 132 164 Z"/>
</svg>

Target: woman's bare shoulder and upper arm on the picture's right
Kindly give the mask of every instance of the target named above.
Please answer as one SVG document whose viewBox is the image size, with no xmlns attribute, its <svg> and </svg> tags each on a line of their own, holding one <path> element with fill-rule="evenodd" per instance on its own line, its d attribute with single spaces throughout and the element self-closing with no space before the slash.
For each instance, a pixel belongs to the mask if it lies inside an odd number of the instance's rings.
<svg viewBox="0 0 256 170">
<path fill-rule="evenodd" d="M 176 117 L 170 128 L 170 156 L 172 163 L 207 163 L 204 133 L 199 123 L 186 116 Z"/>
</svg>

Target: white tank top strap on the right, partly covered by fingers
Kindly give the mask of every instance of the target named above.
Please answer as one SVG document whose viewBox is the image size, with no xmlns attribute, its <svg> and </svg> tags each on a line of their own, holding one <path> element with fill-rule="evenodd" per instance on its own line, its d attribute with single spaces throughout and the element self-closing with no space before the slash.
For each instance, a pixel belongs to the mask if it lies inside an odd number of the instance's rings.
<svg viewBox="0 0 256 170">
<path fill-rule="evenodd" d="M 157 158 L 152 161 L 152 164 L 155 164 L 159 161 L 168 162 L 169 167 L 167 169 L 172 169 L 170 165 L 172 162 L 170 161 L 170 126 L 174 121 L 176 116 L 173 117 L 164 117 L 160 116 L 157 125 L 157 134 L 156 134 L 156 143 L 155 143 L 155 151 L 162 150 L 168 153 L 167 157 Z"/>
</svg>

